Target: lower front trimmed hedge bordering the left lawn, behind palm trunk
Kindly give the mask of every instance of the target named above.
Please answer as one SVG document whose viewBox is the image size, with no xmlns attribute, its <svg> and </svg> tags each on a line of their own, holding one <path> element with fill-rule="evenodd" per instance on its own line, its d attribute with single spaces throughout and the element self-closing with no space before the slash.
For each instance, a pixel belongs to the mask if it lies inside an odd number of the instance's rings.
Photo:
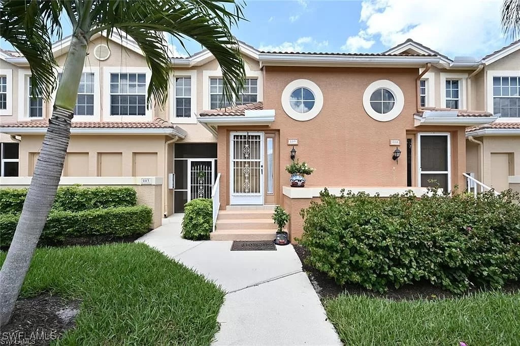
<svg viewBox="0 0 520 346">
<path fill-rule="evenodd" d="M 0 215 L 0 247 L 11 244 L 19 217 L 19 214 Z M 152 210 L 146 206 L 51 211 L 38 245 L 56 245 L 67 237 L 142 235 L 151 224 Z"/>
</svg>

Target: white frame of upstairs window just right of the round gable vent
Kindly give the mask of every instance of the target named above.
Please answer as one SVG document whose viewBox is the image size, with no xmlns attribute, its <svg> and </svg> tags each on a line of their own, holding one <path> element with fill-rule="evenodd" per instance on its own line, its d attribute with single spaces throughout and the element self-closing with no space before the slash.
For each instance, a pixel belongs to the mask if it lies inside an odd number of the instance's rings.
<svg viewBox="0 0 520 346">
<path fill-rule="evenodd" d="M 101 121 L 152 121 L 153 120 L 153 104 L 150 108 L 145 108 L 144 116 L 112 116 L 110 114 L 110 74 L 111 73 L 145 73 L 146 74 L 146 93 L 145 98 L 148 98 L 148 86 L 150 85 L 150 78 L 152 71 L 147 67 L 104 67 L 103 68 L 103 109 Z"/>
</svg>

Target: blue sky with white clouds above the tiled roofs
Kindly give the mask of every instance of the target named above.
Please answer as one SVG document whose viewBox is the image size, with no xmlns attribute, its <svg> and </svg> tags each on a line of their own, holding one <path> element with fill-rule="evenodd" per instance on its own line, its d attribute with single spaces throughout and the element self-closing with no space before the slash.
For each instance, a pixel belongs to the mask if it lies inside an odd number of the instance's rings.
<svg viewBox="0 0 520 346">
<path fill-rule="evenodd" d="M 375 53 L 411 38 L 449 57 L 482 57 L 512 41 L 501 33 L 500 0 L 245 2 L 249 21 L 241 21 L 233 33 L 262 50 Z M 201 49 L 196 42 L 185 43 L 189 54 Z"/>
</svg>

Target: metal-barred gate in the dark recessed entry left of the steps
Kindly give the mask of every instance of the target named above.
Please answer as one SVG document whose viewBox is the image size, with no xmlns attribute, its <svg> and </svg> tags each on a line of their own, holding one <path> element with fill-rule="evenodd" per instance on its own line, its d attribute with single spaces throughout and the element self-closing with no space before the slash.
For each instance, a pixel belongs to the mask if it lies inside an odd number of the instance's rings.
<svg viewBox="0 0 520 346">
<path fill-rule="evenodd" d="M 211 198 L 214 160 L 188 160 L 190 178 L 188 180 L 188 201 L 196 198 Z"/>
</svg>

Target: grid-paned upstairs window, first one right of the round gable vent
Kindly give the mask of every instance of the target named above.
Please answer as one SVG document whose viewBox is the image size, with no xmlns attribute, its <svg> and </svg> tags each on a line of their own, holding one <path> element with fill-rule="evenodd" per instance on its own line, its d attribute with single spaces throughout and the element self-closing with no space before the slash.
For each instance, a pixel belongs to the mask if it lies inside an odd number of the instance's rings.
<svg viewBox="0 0 520 346">
<path fill-rule="evenodd" d="M 146 73 L 110 73 L 110 115 L 145 114 Z"/>
</svg>

